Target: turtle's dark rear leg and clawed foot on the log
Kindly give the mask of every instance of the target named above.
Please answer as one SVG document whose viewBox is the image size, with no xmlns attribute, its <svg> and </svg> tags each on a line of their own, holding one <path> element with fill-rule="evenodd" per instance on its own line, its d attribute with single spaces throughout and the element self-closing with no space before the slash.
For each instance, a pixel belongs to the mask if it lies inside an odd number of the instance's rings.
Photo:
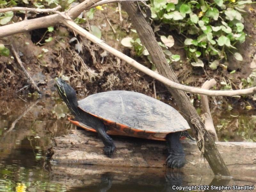
<svg viewBox="0 0 256 192">
<path fill-rule="evenodd" d="M 166 136 L 169 156 L 166 159 L 168 167 L 181 168 L 185 165 L 185 153 L 180 143 L 180 132 L 169 133 Z"/>
</svg>

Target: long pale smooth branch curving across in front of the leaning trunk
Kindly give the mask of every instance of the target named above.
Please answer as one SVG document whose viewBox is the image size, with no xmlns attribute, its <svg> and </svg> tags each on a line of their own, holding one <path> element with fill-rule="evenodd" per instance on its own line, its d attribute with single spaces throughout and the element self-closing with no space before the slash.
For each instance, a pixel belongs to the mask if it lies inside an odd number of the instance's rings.
<svg viewBox="0 0 256 192">
<path fill-rule="evenodd" d="M 66 21 L 63 21 L 63 23 L 67 27 L 71 28 L 72 30 L 79 33 L 80 35 L 84 36 L 85 38 L 89 39 L 93 43 L 97 44 L 102 49 L 112 53 L 116 57 L 126 61 L 133 67 L 137 68 L 138 70 L 142 71 L 143 73 L 155 78 L 156 80 L 162 82 L 163 84 L 165 84 L 169 87 L 179 89 L 182 91 L 186 91 L 186 92 L 198 93 L 198 94 L 203 94 L 203 95 L 208 95 L 208 96 L 235 96 L 235 95 L 246 95 L 246 94 L 256 93 L 256 87 L 252 87 L 252 88 L 248 88 L 248 89 L 241 89 L 241 90 L 233 90 L 233 91 L 211 91 L 211 90 L 200 89 L 200 88 L 196 88 L 196 87 L 190 87 L 190 86 L 175 83 L 175 82 L 171 81 L 170 79 L 167 79 L 166 77 L 161 76 L 158 73 L 146 68 L 145 66 L 141 65 L 137 61 L 128 57 L 124 53 L 121 53 L 121 52 L 117 51 L 116 49 L 110 47 L 104 41 L 100 40 L 96 36 L 93 36 L 92 34 L 90 34 L 85 29 L 76 25 L 76 23 L 74 23 L 73 21 L 66 20 Z"/>
</svg>

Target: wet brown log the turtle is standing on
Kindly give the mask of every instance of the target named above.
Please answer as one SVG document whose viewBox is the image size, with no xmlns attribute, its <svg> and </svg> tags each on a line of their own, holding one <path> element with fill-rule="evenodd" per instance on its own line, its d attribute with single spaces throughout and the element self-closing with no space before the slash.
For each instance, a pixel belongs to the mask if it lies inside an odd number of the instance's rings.
<svg viewBox="0 0 256 192">
<path fill-rule="evenodd" d="M 49 154 L 51 162 L 58 164 L 94 164 L 120 167 L 151 167 L 166 169 L 168 156 L 164 141 L 112 136 L 116 151 L 112 158 L 103 154 L 103 143 L 98 135 L 83 130 L 73 130 L 69 135 L 53 140 Z M 182 170 L 190 174 L 212 174 L 211 168 L 195 141 L 181 140 L 186 154 Z M 220 154 L 231 175 L 239 180 L 256 181 L 256 143 L 216 142 Z M 118 168 L 119 169 L 119 168 Z"/>
</svg>

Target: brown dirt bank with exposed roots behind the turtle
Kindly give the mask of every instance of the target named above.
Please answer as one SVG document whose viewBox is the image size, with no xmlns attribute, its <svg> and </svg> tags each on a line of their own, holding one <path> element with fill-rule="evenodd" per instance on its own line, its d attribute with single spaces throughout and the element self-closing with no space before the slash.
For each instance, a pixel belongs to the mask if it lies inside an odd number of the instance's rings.
<svg viewBox="0 0 256 192">
<path fill-rule="evenodd" d="M 173 63 L 172 67 L 180 82 L 200 87 L 205 80 L 215 78 L 217 89 L 223 88 L 220 82 L 223 82 L 224 79 L 231 84 L 233 89 L 242 88 L 241 79 L 246 79 L 252 73 L 250 65 L 256 52 L 255 15 L 255 10 L 253 10 L 245 16 L 247 40 L 244 44 L 239 45 L 239 52 L 244 61 L 237 62 L 233 56 L 229 56 L 227 70 L 221 67 L 217 70 L 211 70 L 209 67 L 193 68 L 189 63 L 184 63 L 182 66 L 178 62 Z M 120 44 L 120 40 L 127 36 L 127 31 L 132 28 L 127 15 L 123 14 L 123 17 L 124 21 L 121 23 L 119 14 L 107 8 L 107 10 L 95 12 L 94 19 L 89 20 L 90 24 L 85 23 L 83 25 L 86 28 L 89 25 L 100 27 L 102 39 L 107 44 L 134 57 L 133 51 L 124 49 Z M 108 24 L 107 18 L 110 20 L 111 26 Z M 116 33 L 111 27 L 116 30 Z M 69 77 L 71 85 L 76 87 L 77 92 L 83 96 L 108 90 L 132 90 L 147 95 L 154 94 L 154 80 L 152 78 L 99 49 L 95 44 L 75 36 L 73 32 L 68 31 L 63 26 L 55 26 L 51 33 L 46 32 L 46 30 L 37 29 L 0 40 L 0 43 L 7 47 L 8 44 L 13 44 L 24 67 L 45 94 L 52 94 L 54 78 L 62 75 Z M 53 37 L 53 40 L 45 43 L 45 39 L 50 36 Z M 70 42 L 73 37 L 76 37 L 77 40 Z M 82 48 L 80 52 L 78 52 L 77 44 Z M 186 56 L 183 49 L 178 48 L 179 46 L 178 43 L 175 43 L 171 51 L 183 55 L 181 60 L 185 61 Z M 136 60 L 151 67 L 151 64 L 144 57 L 136 58 Z M 232 70 L 236 70 L 236 72 L 230 74 Z M 15 94 L 19 90 L 21 93 L 33 92 L 24 72 L 11 57 L 0 58 L 0 76 L 0 94 L 6 92 Z M 156 92 L 165 91 L 164 86 L 156 82 Z"/>
</svg>

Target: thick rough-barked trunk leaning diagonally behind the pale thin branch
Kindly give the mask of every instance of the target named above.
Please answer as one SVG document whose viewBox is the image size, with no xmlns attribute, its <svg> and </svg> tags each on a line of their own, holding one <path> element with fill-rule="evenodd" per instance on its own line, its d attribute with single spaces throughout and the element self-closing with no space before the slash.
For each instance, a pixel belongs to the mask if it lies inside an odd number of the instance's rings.
<svg viewBox="0 0 256 192">
<path fill-rule="evenodd" d="M 165 55 L 161 47 L 157 44 L 154 32 L 151 26 L 143 17 L 135 3 L 124 2 L 123 8 L 132 20 L 133 26 L 136 28 L 142 44 L 145 45 L 152 57 L 153 63 L 156 65 L 158 72 L 168 79 L 179 83 L 177 76 L 173 72 L 170 65 L 166 62 Z M 187 94 L 184 91 L 172 89 L 168 87 L 172 93 L 175 102 L 178 104 L 184 118 L 188 121 L 190 127 L 197 140 L 197 145 L 204 157 L 210 164 L 215 175 L 230 176 L 227 166 L 225 165 L 220 153 L 212 139 L 211 135 L 205 130 L 205 126 L 201 118 L 196 113 L 196 109 L 190 103 Z"/>
</svg>

